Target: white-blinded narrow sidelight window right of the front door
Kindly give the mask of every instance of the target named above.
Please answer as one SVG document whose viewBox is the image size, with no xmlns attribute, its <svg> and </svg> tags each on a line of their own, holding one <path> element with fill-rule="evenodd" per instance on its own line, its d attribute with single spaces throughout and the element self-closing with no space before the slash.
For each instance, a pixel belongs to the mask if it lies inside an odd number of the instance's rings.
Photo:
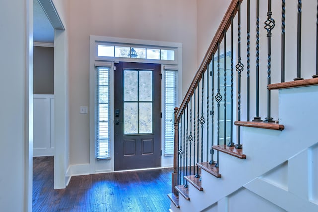
<svg viewBox="0 0 318 212">
<path fill-rule="evenodd" d="M 164 71 L 164 156 L 173 155 L 174 108 L 177 106 L 177 70 Z"/>
</svg>

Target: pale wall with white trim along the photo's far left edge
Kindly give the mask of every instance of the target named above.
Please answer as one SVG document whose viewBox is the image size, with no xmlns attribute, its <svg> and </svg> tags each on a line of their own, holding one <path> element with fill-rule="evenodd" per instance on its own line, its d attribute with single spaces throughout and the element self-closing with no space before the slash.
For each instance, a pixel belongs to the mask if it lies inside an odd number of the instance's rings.
<svg viewBox="0 0 318 212">
<path fill-rule="evenodd" d="M 0 2 L 1 211 L 32 211 L 32 5 Z"/>
</svg>

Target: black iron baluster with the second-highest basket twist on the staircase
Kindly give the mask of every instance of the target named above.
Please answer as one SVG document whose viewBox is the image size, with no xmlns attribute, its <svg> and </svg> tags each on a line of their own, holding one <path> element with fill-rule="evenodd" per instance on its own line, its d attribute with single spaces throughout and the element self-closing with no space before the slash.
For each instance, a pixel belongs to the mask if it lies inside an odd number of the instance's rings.
<svg viewBox="0 0 318 212">
<path fill-rule="evenodd" d="M 238 112 L 238 120 L 240 121 L 240 110 L 241 110 L 241 96 L 240 96 L 240 93 L 241 93 L 241 78 L 242 78 L 242 75 L 241 75 L 241 72 L 244 70 L 244 65 L 242 64 L 241 62 L 241 55 L 240 55 L 240 3 L 239 3 L 239 17 L 238 17 L 238 22 L 239 22 L 239 44 L 238 44 L 238 54 L 239 54 L 239 57 L 238 57 L 238 64 L 235 66 L 236 67 L 236 71 L 238 71 L 238 78 L 239 78 L 239 89 L 238 89 L 238 98 L 239 98 L 239 112 Z M 235 148 L 237 149 L 241 149 L 242 148 L 242 145 L 240 144 L 240 126 L 238 126 L 238 143 L 235 145 Z"/>
</svg>

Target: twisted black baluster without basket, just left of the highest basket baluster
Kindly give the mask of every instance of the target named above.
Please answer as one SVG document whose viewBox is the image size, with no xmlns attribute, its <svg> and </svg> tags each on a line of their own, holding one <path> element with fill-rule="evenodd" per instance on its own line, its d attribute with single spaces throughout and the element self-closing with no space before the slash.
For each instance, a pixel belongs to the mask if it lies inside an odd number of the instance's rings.
<svg viewBox="0 0 318 212">
<path fill-rule="evenodd" d="M 253 121 L 263 121 L 259 117 L 259 0 L 256 1 L 256 116 Z"/>
</svg>

